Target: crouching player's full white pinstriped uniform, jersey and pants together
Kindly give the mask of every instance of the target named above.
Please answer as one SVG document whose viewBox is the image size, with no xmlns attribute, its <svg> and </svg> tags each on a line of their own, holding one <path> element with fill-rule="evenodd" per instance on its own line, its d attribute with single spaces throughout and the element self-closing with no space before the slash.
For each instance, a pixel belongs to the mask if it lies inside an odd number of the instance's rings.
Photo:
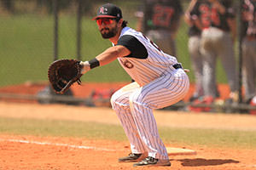
<svg viewBox="0 0 256 170">
<path fill-rule="evenodd" d="M 148 50 L 147 59 L 118 58 L 119 63 L 135 81 L 113 94 L 111 104 L 131 143 L 132 153 L 148 152 L 148 156 L 168 159 L 166 147 L 160 139 L 153 109 L 177 103 L 189 90 L 189 78 L 183 69 L 175 69 L 177 59 L 165 54 L 129 27 L 121 36 L 131 35 Z"/>
</svg>

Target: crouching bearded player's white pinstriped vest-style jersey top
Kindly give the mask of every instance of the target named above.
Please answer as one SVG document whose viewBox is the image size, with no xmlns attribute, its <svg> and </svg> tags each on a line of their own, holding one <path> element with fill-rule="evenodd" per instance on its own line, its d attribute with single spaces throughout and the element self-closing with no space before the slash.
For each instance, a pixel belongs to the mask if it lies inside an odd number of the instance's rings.
<svg viewBox="0 0 256 170">
<path fill-rule="evenodd" d="M 131 54 L 119 57 L 119 63 L 140 86 L 154 81 L 154 79 L 175 70 L 172 65 L 177 59 L 164 53 L 154 42 L 145 37 L 143 33 L 125 27 L 121 31 L 116 45 L 125 46 Z"/>
</svg>

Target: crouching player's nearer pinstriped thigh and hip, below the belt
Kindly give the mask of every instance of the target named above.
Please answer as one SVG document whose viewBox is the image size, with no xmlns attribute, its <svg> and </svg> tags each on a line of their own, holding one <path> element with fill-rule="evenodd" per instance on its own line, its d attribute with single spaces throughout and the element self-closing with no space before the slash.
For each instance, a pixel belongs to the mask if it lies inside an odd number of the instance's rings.
<svg viewBox="0 0 256 170">
<path fill-rule="evenodd" d="M 131 103 L 159 109 L 184 98 L 189 90 L 189 78 L 178 69 L 171 75 L 159 77 L 142 88 L 137 88 L 130 97 Z"/>
</svg>

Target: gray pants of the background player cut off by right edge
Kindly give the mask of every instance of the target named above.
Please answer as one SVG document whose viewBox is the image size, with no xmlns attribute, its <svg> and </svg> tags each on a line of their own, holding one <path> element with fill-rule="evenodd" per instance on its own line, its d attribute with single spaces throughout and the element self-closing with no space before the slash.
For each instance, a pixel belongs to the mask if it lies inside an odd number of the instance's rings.
<svg viewBox="0 0 256 170">
<path fill-rule="evenodd" d="M 256 95 L 256 39 L 244 38 L 242 41 L 242 81 L 245 88 L 245 100 Z"/>
</svg>

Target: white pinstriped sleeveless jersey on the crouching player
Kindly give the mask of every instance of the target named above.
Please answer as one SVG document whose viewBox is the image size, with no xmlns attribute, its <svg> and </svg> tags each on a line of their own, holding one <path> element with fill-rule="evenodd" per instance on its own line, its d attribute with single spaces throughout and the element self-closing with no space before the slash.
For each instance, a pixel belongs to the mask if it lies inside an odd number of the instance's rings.
<svg viewBox="0 0 256 170">
<path fill-rule="evenodd" d="M 154 79 L 165 74 L 166 70 L 173 69 L 172 65 L 177 64 L 177 59 L 169 54 L 165 54 L 160 48 L 151 42 L 141 32 L 125 27 L 120 34 L 131 35 L 142 42 L 148 51 L 147 59 L 137 59 L 129 57 L 119 57 L 119 63 L 124 67 L 130 77 L 140 86 L 152 82 Z"/>
</svg>

